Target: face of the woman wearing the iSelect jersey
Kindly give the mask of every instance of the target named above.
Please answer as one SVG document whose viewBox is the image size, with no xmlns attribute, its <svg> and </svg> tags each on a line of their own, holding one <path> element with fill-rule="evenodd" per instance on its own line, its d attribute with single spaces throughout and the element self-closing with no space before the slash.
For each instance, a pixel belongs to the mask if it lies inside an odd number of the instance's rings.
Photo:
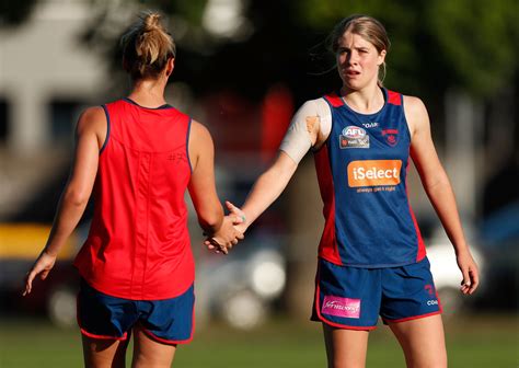
<svg viewBox="0 0 519 368">
<path fill-rule="evenodd" d="M 337 70 L 345 88 L 361 90 L 377 84 L 379 67 L 385 50 L 380 54 L 370 42 L 358 34 L 345 32 L 337 43 Z"/>
</svg>

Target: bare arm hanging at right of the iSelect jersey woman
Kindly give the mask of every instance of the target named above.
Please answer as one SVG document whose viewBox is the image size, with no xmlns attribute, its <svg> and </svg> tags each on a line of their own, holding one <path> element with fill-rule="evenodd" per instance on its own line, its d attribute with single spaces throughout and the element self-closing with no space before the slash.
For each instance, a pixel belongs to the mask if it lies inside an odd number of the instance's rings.
<svg viewBox="0 0 519 368">
<path fill-rule="evenodd" d="M 425 192 L 454 246 L 458 266 L 463 274 L 461 291 L 473 294 L 480 284 L 477 265 L 463 234 L 452 186 L 432 142 L 427 110 L 422 100 L 412 96 L 404 97 L 404 108 L 411 133 L 411 157 Z"/>
</svg>

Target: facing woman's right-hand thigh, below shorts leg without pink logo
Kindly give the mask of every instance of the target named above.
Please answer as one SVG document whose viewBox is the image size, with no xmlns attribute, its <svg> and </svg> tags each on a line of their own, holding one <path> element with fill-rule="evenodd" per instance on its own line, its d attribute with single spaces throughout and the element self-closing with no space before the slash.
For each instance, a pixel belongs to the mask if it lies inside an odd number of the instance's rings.
<svg viewBox="0 0 519 368">
<path fill-rule="evenodd" d="M 389 322 L 405 354 L 407 367 L 447 367 L 441 315 Z"/>
</svg>

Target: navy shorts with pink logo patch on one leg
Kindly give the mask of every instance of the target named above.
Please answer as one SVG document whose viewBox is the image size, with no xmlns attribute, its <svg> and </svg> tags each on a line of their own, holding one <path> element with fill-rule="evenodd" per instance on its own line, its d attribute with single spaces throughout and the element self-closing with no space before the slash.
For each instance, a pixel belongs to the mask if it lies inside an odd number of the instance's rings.
<svg viewBox="0 0 519 368">
<path fill-rule="evenodd" d="M 401 267 L 359 268 L 319 260 L 312 321 L 347 330 L 373 330 L 441 313 L 430 264 L 423 261 Z"/>
</svg>

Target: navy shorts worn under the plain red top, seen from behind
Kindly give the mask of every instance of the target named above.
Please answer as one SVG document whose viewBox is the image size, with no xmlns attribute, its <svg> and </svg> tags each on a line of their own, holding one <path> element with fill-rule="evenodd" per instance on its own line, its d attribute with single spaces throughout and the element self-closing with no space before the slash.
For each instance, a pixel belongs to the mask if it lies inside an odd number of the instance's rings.
<svg viewBox="0 0 519 368">
<path fill-rule="evenodd" d="M 193 338 L 195 294 L 164 300 L 130 300 L 111 297 L 81 280 L 78 324 L 94 338 L 126 340 L 139 323 L 145 333 L 164 344 L 185 344 Z"/>
</svg>

